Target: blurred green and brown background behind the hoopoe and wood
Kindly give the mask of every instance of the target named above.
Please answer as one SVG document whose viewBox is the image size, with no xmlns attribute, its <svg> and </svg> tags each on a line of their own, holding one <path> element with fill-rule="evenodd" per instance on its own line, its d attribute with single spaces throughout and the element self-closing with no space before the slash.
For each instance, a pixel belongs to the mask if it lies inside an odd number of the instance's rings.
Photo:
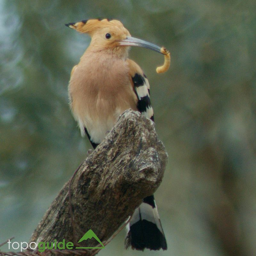
<svg viewBox="0 0 256 256">
<path fill-rule="evenodd" d="M 161 75 L 162 55 L 130 52 L 169 154 L 156 192 L 168 250 L 126 251 L 122 232 L 99 255 L 255 255 L 255 13 L 253 0 L 0 0 L 0 243 L 29 240 L 91 148 L 67 94 L 90 38 L 64 24 L 106 17 L 171 51 Z"/>
</svg>

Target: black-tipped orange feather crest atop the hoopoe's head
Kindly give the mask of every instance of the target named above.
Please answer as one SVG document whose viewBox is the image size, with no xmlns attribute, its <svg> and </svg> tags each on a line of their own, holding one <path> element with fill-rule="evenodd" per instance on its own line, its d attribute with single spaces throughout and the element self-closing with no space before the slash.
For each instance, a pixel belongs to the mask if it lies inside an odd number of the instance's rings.
<svg viewBox="0 0 256 256">
<path fill-rule="evenodd" d="M 92 35 L 92 33 L 102 27 L 118 27 L 124 28 L 124 25 L 119 20 L 113 19 L 91 19 L 82 20 L 79 22 L 65 24 L 69 28 L 73 28 L 80 33 L 87 33 Z"/>
</svg>

